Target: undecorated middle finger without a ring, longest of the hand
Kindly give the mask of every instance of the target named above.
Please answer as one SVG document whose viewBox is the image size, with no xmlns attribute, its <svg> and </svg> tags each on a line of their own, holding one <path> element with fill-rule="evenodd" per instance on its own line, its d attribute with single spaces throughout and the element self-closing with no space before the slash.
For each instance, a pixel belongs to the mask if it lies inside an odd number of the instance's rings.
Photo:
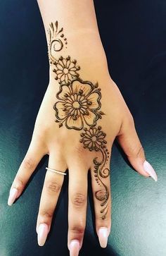
<svg viewBox="0 0 166 256">
<path fill-rule="evenodd" d="M 69 166 L 68 249 L 78 255 L 82 247 L 87 216 L 87 173 L 82 164 Z"/>
</svg>

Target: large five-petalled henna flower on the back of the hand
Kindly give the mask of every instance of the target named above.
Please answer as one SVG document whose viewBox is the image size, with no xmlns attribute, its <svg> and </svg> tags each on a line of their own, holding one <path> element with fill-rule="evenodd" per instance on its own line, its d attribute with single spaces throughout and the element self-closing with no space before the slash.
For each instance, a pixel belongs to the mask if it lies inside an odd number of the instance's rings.
<svg viewBox="0 0 166 256">
<path fill-rule="evenodd" d="M 101 89 L 89 81 L 75 78 L 69 85 L 60 85 L 57 93 L 59 99 L 54 104 L 56 122 L 59 126 L 69 129 L 82 130 L 84 123 L 87 126 L 96 126 L 96 121 L 103 115 L 101 108 Z"/>
</svg>

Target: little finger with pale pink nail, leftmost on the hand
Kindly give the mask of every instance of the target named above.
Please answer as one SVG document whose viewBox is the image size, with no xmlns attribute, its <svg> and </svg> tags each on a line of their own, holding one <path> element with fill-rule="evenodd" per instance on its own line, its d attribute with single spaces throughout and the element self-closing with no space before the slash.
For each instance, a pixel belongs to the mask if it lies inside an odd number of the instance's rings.
<svg viewBox="0 0 166 256">
<path fill-rule="evenodd" d="M 41 140 L 32 140 L 11 185 L 8 205 L 12 205 L 15 199 L 23 192 L 27 181 L 29 181 L 30 176 L 36 169 L 41 158 L 44 157 L 44 154 L 46 154 L 46 149 L 41 144 Z"/>
</svg>

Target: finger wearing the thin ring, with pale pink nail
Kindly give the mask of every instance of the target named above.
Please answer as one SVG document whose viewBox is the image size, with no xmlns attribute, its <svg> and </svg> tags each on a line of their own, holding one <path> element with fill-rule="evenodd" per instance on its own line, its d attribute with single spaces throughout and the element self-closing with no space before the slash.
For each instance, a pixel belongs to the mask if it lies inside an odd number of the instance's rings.
<svg viewBox="0 0 166 256">
<path fill-rule="evenodd" d="M 49 156 L 49 168 L 58 171 L 67 169 L 63 158 L 57 154 L 51 153 Z M 56 204 L 64 181 L 64 175 L 53 171 L 46 171 L 44 186 L 41 193 L 39 204 L 39 214 L 37 217 L 37 239 L 40 246 L 44 245 L 46 237 L 51 228 L 53 212 L 56 209 Z"/>
</svg>

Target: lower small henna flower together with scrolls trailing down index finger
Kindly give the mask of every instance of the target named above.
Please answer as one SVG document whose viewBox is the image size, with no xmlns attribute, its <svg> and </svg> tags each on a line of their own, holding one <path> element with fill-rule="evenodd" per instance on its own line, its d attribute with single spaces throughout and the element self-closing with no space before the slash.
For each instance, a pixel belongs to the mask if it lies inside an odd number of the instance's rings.
<svg viewBox="0 0 166 256">
<path fill-rule="evenodd" d="M 107 186 L 103 183 L 102 178 L 107 178 L 110 175 L 110 170 L 106 167 L 109 152 L 106 148 L 106 133 L 103 133 L 101 126 L 98 128 L 90 127 L 84 128 L 84 133 L 81 133 L 81 139 L 79 140 L 83 143 L 84 148 L 88 148 L 90 151 L 101 152 L 101 160 L 98 161 L 98 157 L 94 158 L 94 176 L 96 182 L 100 185 L 101 189 L 96 191 L 95 197 L 97 200 L 101 201 L 101 213 L 103 214 L 102 219 L 106 219 L 106 214 L 108 213 L 108 197 L 109 191 Z"/>
</svg>

